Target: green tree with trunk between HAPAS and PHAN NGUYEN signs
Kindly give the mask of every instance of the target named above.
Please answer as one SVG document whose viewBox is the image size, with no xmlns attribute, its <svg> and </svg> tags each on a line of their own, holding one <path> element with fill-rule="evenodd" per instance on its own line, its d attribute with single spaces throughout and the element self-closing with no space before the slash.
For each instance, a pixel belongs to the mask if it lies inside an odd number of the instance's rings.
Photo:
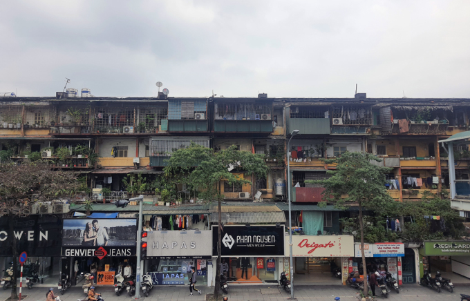
<svg viewBox="0 0 470 301">
<path fill-rule="evenodd" d="M 220 242 L 222 240 L 220 201 L 223 195 L 220 193 L 221 185 L 223 181 L 236 185 L 252 184 L 245 177 L 239 177 L 236 173 L 264 177 L 267 171 L 269 171 L 269 168 L 265 164 L 264 155 L 238 151 L 236 146 L 230 146 L 225 150 L 214 153 L 212 148 L 191 143 L 188 148 L 176 150 L 168 160 L 168 166 L 165 168 L 167 175 L 170 173 L 171 175 L 182 175 L 185 183 L 198 192 L 198 197 L 209 202 L 218 202 L 217 272 L 220 266 Z M 216 300 L 219 295 L 219 288 L 220 275 L 216 273 L 214 289 Z"/>
</svg>

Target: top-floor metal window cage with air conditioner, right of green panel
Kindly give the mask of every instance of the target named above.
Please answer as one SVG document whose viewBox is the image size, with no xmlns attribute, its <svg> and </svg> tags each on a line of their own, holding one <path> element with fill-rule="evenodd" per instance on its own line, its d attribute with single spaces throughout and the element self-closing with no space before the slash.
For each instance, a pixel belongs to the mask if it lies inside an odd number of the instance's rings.
<svg viewBox="0 0 470 301">
<path fill-rule="evenodd" d="M 369 126 L 372 124 L 370 106 L 332 106 L 333 126 Z"/>
</svg>

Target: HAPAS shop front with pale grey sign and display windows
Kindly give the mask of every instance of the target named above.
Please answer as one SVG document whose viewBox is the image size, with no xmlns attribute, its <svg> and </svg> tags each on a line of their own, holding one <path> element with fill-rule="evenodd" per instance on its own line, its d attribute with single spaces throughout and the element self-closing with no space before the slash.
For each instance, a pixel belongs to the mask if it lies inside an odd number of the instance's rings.
<svg viewBox="0 0 470 301">
<path fill-rule="evenodd" d="M 212 233 L 196 231 L 147 231 L 145 273 L 153 285 L 189 284 L 191 270 L 198 285 L 212 279 Z"/>
</svg>

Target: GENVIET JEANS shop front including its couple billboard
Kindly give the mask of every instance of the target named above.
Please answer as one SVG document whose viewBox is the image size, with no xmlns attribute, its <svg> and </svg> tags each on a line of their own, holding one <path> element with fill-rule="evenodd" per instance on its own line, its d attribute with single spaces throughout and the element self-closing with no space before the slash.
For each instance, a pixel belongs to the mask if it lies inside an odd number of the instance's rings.
<svg viewBox="0 0 470 301">
<path fill-rule="evenodd" d="M 72 284 L 83 284 L 82 273 L 95 276 L 93 284 L 113 285 L 118 273 L 136 273 L 137 220 L 134 218 L 64 220 L 62 273 Z"/>
</svg>

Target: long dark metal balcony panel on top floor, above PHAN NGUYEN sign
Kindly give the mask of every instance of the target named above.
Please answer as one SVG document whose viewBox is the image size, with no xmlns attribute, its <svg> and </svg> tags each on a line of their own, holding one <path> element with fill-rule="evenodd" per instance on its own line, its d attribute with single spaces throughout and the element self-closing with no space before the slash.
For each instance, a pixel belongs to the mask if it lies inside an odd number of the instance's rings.
<svg viewBox="0 0 470 301">
<path fill-rule="evenodd" d="M 214 120 L 215 133 L 272 133 L 272 120 Z"/>
</svg>

